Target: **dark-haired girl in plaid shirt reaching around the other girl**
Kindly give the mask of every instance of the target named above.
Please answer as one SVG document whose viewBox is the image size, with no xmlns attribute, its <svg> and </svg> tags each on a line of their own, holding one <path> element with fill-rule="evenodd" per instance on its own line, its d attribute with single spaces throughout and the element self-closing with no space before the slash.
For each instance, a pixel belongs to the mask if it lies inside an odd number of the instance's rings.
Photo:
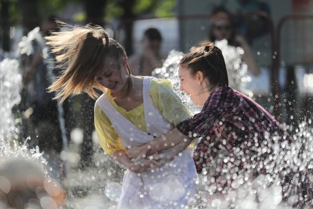
<svg viewBox="0 0 313 209">
<path fill-rule="evenodd" d="M 178 143 L 187 146 L 199 137 L 194 160 L 197 171 L 208 176 L 205 190 L 210 195 L 227 200 L 227 194 L 239 187 L 247 190 L 249 185 L 258 192 L 272 186 L 279 193 L 278 203 L 298 208 L 312 204 L 312 183 L 306 169 L 294 160 L 299 156 L 292 155 L 291 137 L 259 104 L 228 87 L 219 48 L 213 43 L 191 48 L 179 63 L 179 79 L 180 90 L 203 106 L 201 112 L 161 138 L 128 150 L 130 157 L 146 150 L 160 164 L 166 163 L 172 159 L 155 153 Z M 256 195 L 254 200 L 262 198 Z"/>
</svg>

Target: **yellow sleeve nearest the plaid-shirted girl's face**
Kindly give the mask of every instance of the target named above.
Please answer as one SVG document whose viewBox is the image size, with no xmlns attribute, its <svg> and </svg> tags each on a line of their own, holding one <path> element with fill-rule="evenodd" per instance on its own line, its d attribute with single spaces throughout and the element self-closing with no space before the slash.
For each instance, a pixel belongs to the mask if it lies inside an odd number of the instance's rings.
<svg viewBox="0 0 313 209">
<path fill-rule="evenodd" d="M 179 96 L 174 93 L 172 84 L 166 79 L 151 81 L 150 96 L 161 115 L 176 127 L 181 121 L 190 119 L 190 114 Z"/>
</svg>

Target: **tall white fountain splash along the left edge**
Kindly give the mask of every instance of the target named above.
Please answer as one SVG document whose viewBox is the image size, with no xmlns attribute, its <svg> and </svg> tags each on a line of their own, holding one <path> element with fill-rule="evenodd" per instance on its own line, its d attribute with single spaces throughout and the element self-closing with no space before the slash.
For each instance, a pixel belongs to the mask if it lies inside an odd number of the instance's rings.
<svg viewBox="0 0 313 209">
<path fill-rule="evenodd" d="M 32 36 L 33 33 L 30 34 Z M 34 39 L 34 37 L 32 37 Z M 7 160 L 14 157 L 27 157 L 29 159 L 41 158 L 39 148 L 28 150 L 26 143 L 17 141 L 19 128 L 13 116 L 12 108 L 21 101 L 20 91 L 22 89 L 22 74 L 19 69 L 19 58 L 21 54 L 31 54 L 32 47 L 27 45 L 27 38 L 24 37 L 20 47 L 11 54 L 11 58 L 5 58 L 0 63 L 0 159 Z M 29 152 L 28 152 L 29 151 Z M 41 158 L 42 163 L 46 164 L 45 159 Z"/>
</svg>

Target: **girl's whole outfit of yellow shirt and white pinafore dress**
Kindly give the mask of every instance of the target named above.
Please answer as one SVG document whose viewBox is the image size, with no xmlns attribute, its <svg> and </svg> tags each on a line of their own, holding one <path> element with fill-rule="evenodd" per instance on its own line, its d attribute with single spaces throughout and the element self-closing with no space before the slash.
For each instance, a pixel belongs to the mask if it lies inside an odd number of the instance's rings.
<svg viewBox="0 0 313 209">
<path fill-rule="evenodd" d="M 108 154 L 147 143 L 189 119 L 187 108 L 164 79 L 143 77 L 143 104 L 126 111 L 118 107 L 111 93 L 102 94 L 95 104 L 95 129 Z M 164 151 L 166 152 L 166 150 Z M 195 192 L 197 178 L 188 147 L 162 167 L 142 173 L 127 170 L 123 178 L 118 209 L 181 208 Z"/>
</svg>

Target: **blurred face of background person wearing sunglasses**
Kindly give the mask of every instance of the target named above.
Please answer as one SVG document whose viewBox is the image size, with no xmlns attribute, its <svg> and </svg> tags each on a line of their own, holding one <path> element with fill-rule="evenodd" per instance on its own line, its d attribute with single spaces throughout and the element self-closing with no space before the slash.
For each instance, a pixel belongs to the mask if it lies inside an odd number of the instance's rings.
<svg viewBox="0 0 313 209">
<path fill-rule="evenodd" d="M 228 20 L 221 19 L 212 23 L 213 35 L 218 41 L 229 39 L 231 36 L 231 25 Z"/>
</svg>

